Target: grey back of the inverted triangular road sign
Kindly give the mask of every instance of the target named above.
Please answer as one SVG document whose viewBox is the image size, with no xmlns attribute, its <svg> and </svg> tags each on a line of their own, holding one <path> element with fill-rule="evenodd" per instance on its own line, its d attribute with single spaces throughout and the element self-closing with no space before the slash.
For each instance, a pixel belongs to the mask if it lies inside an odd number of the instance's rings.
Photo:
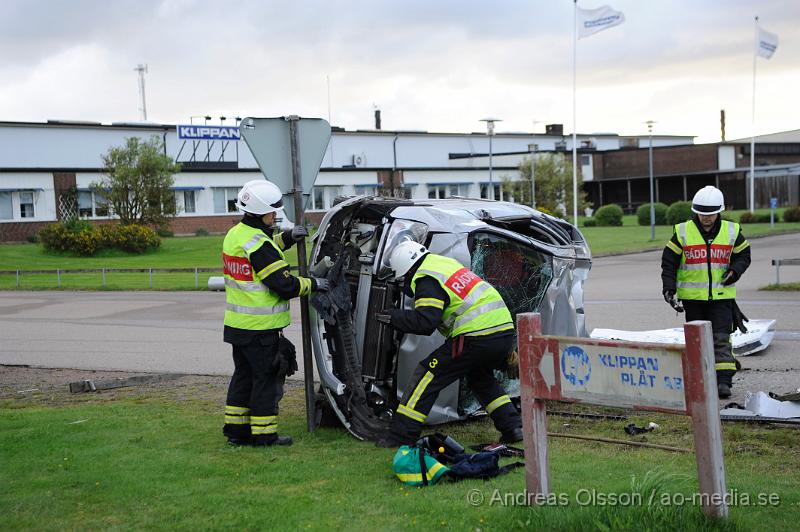
<svg viewBox="0 0 800 532">
<path fill-rule="evenodd" d="M 303 205 L 308 204 L 319 167 L 328 149 L 331 126 L 321 118 L 300 118 L 297 123 L 297 150 L 300 160 L 300 187 Z M 242 138 L 250 148 L 261 173 L 283 192 L 283 205 L 289 220 L 295 221 L 292 192 L 292 150 L 287 117 L 242 120 Z"/>
</svg>

